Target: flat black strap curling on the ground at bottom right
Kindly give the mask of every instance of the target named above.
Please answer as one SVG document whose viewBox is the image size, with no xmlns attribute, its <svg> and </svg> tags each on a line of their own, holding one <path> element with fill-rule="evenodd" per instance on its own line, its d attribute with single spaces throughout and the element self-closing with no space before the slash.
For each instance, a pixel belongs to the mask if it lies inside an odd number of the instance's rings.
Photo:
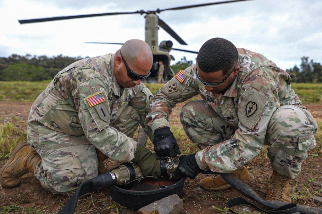
<svg viewBox="0 0 322 214">
<path fill-rule="evenodd" d="M 270 214 L 294 214 L 294 213 L 299 213 L 298 212 L 298 207 L 296 204 L 285 204 L 283 206 L 280 206 L 279 208 L 273 209 L 273 210 L 263 210 L 261 208 L 259 208 L 258 206 L 256 206 L 255 204 L 247 201 L 246 199 L 242 198 L 242 197 L 236 197 L 236 198 L 232 198 L 229 199 L 227 201 L 227 206 L 229 208 L 229 211 L 231 211 L 232 213 L 235 213 L 234 211 L 232 211 L 232 207 L 233 206 L 237 206 L 237 205 L 241 205 L 241 204 L 245 204 L 245 205 L 249 205 L 253 208 L 255 208 L 256 210 L 259 210 L 261 212 L 264 213 L 270 213 Z"/>
</svg>

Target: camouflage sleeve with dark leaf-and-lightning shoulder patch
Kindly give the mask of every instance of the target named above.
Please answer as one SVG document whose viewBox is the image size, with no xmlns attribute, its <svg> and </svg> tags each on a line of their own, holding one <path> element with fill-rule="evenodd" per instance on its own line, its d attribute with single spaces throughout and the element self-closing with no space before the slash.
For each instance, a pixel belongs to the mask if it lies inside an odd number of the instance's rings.
<svg viewBox="0 0 322 214">
<path fill-rule="evenodd" d="M 208 146 L 196 153 L 201 169 L 229 173 L 242 167 L 260 153 L 267 126 L 276 110 L 274 82 L 263 76 L 251 75 L 242 86 L 238 100 L 238 129 L 231 139 Z"/>
</svg>

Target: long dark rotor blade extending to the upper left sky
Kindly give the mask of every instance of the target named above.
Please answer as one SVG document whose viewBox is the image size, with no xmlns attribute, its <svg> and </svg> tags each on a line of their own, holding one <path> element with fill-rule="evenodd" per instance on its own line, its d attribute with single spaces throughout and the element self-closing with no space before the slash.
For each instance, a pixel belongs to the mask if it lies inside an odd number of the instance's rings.
<svg viewBox="0 0 322 214">
<path fill-rule="evenodd" d="M 143 14 L 143 11 L 96 13 L 96 14 L 85 14 L 85 15 L 75 15 L 75 16 L 57 16 L 57 17 L 39 18 L 39 19 L 24 19 L 24 20 L 18 20 L 18 21 L 20 24 L 27 24 L 27 23 L 35 23 L 35 22 L 43 22 L 43 21 L 57 21 L 57 20 L 65 20 L 65 19 L 78 19 L 78 18 L 87 18 L 87 17 L 94 17 L 94 16 L 109 16 L 109 15 L 134 14 L 134 13 Z"/>
</svg>

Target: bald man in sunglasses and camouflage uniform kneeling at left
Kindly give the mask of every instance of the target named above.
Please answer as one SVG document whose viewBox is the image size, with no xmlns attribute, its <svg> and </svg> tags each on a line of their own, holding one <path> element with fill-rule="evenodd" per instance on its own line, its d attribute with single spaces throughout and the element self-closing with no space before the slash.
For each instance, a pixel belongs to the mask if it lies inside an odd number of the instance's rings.
<svg viewBox="0 0 322 214">
<path fill-rule="evenodd" d="M 83 181 L 106 172 L 106 158 L 137 162 L 144 175 L 159 176 L 156 157 L 132 139 L 139 124 L 145 127 L 152 94 L 141 80 L 151 67 L 150 47 L 132 39 L 115 54 L 82 59 L 59 72 L 33 103 L 28 143 L 11 153 L 1 184 L 18 186 L 29 171 L 46 190 L 72 195 Z"/>
</svg>

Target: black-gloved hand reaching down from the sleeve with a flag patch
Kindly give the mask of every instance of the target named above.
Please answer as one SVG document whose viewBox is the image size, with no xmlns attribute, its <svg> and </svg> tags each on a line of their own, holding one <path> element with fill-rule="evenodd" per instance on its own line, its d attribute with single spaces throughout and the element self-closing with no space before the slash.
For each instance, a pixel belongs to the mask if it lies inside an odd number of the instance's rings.
<svg viewBox="0 0 322 214">
<path fill-rule="evenodd" d="M 181 151 L 175 140 L 175 136 L 170 130 L 170 127 L 164 127 L 157 129 L 154 132 L 154 151 L 160 157 L 172 157 L 180 155 Z"/>
</svg>

